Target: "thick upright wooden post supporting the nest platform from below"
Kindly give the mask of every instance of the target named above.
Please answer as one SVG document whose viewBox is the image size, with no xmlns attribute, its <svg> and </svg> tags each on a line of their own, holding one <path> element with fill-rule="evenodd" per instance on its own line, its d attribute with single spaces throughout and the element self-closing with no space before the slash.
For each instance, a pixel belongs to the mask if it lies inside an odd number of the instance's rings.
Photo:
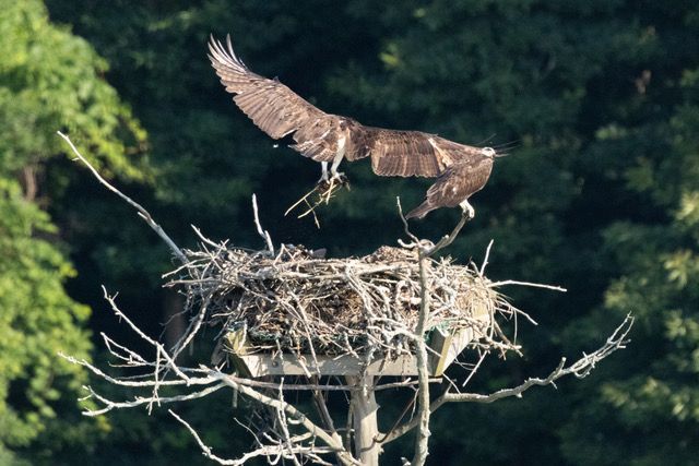
<svg viewBox="0 0 699 466">
<path fill-rule="evenodd" d="M 378 406 L 374 395 L 374 377 L 368 374 L 347 375 L 347 383 L 359 389 L 352 391 L 350 401 L 355 457 L 363 466 L 378 466 L 381 447 L 376 442 L 379 428 L 377 423 Z"/>
</svg>

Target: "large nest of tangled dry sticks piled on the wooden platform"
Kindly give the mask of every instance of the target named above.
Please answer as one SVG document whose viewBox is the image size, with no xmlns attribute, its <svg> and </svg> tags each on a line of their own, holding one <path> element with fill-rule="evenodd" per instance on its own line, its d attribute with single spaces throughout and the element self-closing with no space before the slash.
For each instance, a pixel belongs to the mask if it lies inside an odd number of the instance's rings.
<svg viewBox="0 0 699 466">
<path fill-rule="evenodd" d="M 210 246 L 213 246 L 210 244 Z M 247 327 L 246 351 L 392 357 L 411 351 L 420 304 L 416 254 L 381 247 L 363 258 L 318 259 L 304 247 L 269 252 L 204 247 L 175 273 L 197 319 L 220 337 Z M 428 328 L 479 326 L 509 309 L 474 265 L 430 260 Z M 203 315 L 201 313 L 204 313 Z M 367 356 L 369 355 L 369 356 Z"/>
</svg>

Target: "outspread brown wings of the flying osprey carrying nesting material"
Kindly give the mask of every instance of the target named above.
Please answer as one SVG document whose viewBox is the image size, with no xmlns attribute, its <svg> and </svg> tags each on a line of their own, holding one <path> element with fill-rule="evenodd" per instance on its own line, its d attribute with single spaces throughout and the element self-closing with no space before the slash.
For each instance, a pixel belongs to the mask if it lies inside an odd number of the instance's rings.
<svg viewBox="0 0 699 466">
<path fill-rule="evenodd" d="M 292 148 L 317 162 L 371 156 L 377 175 L 437 177 L 461 156 L 463 145 L 419 131 L 365 127 L 325 113 L 276 80 L 253 73 L 233 50 L 211 38 L 210 60 L 233 100 L 273 139 L 292 134 Z M 467 147 L 467 146 L 466 146 Z M 339 154 L 342 153 L 342 154 Z M 336 167 L 335 167 L 336 168 Z"/>
</svg>

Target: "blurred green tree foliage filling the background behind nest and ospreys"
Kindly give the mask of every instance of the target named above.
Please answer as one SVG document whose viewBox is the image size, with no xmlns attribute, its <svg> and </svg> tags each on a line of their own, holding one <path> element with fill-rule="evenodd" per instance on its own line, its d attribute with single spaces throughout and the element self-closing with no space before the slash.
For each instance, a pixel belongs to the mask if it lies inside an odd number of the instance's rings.
<svg viewBox="0 0 699 466">
<path fill-rule="evenodd" d="M 395 195 L 405 206 L 422 199 L 425 181 L 379 179 L 357 163 L 345 167 L 354 189 L 321 212 L 320 230 L 283 217 L 318 167 L 274 148 L 221 88 L 205 43 L 230 33 L 254 71 L 327 111 L 518 142 L 448 252 L 478 259 L 493 238 L 493 277 L 569 292 L 512 290 L 540 326 L 520 328 L 522 360 L 494 360 L 473 390 L 543 375 L 627 312 L 638 318 L 629 349 L 584 381 L 442 409 L 430 462 L 699 464 L 697 31 L 689 1 L 0 0 L 0 463 L 203 462 L 162 413 L 79 415 L 87 374 L 57 351 L 104 359 L 94 335 L 120 331 L 102 284 L 158 335 L 175 306 L 159 290 L 171 263 L 66 157 L 56 130 L 182 246 L 193 224 L 259 247 L 256 192 L 276 241 L 359 254 L 401 235 Z M 436 237 L 455 215 L 416 228 Z M 246 443 L 221 409 L 228 403 L 178 409 L 235 455 Z M 403 446 L 387 450 L 387 464 Z"/>
</svg>

